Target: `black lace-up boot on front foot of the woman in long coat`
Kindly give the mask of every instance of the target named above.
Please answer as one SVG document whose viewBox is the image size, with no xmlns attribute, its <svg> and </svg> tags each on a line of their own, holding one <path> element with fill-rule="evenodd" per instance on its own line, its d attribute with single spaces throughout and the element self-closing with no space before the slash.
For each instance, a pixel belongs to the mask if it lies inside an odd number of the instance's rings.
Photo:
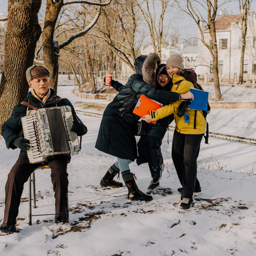
<svg viewBox="0 0 256 256">
<path fill-rule="evenodd" d="M 138 188 L 135 180 L 134 175 L 131 173 L 129 175 L 123 176 L 123 180 L 125 185 L 128 188 L 128 199 L 131 201 L 138 200 L 138 201 L 151 201 L 153 198 L 151 195 L 146 195 Z"/>
</svg>

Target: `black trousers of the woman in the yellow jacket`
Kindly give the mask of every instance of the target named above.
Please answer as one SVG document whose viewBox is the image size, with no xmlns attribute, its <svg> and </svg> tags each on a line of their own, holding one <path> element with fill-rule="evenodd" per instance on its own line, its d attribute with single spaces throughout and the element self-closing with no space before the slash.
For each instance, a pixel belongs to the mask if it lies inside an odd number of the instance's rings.
<svg viewBox="0 0 256 256">
<path fill-rule="evenodd" d="M 192 199 L 195 186 L 200 186 L 197 158 L 204 134 L 180 134 L 176 130 L 172 139 L 172 160 L 183 186 L 183 198 Z"/>
</svg>

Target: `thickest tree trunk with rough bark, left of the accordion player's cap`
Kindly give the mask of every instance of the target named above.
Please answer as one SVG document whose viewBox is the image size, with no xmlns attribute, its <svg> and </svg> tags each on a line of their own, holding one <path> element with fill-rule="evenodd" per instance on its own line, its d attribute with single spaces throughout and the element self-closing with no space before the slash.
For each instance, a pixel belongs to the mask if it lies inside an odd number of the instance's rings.
<svg viewBox="0 0 256 256">
<path fill-rule="evenodd" d="M 26 70 L 32 66 L 41 35 L 38 11 L 41 0 L 9 0 L 5 58 L 0 83 L 0 128 L 29 90 Z"/>
</svg>

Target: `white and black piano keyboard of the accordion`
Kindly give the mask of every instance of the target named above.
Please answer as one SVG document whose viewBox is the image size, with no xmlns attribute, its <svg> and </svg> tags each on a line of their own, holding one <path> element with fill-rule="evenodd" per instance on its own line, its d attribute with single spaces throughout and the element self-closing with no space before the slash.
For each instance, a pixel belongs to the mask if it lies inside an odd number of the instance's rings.
<svg viewBox="0 0 256 256">
<path fill-rule="evenodd" d="M 24 116 L 21 122 L 24 138 L 30 141 L 31 148 L 27 151 L 29 159 L 33 159 L 33 162 L 36 163 L 43 161 L 44 149 L 40 146 L 42 145 L 41 130 L 35 114 Z"/>
</svg>

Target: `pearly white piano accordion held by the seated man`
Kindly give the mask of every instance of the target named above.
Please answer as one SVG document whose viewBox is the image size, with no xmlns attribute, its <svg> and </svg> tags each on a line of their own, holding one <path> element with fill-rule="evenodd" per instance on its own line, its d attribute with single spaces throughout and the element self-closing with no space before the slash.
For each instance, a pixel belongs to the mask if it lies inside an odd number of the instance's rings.
<svg viewBox="0 0 256 256">
<path fill-rule="evenodd" d="M 73 125 L 70 106 L 31 110 L 21 118 L 21 123 L 24 138 L 30 141 L 29 163 L 78 154 L 81 149 L 77 134 L 70 131 Z"/>
</svg>

